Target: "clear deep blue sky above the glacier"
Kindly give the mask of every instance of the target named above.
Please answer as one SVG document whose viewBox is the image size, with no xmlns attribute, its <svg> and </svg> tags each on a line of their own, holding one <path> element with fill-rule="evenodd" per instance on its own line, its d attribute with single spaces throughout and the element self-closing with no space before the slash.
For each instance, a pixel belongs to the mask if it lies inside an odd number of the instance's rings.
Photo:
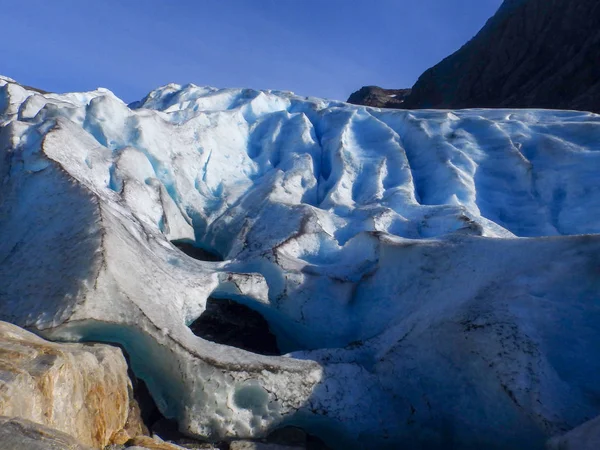
<svg viewBox="0 0 600 450">
<path fill-rule="evenodd" d="M 169 83 L 346 100 L 410 87 L 502 0 L 0 0 L 0 74 L 125 101 Z"/>
</svg>

